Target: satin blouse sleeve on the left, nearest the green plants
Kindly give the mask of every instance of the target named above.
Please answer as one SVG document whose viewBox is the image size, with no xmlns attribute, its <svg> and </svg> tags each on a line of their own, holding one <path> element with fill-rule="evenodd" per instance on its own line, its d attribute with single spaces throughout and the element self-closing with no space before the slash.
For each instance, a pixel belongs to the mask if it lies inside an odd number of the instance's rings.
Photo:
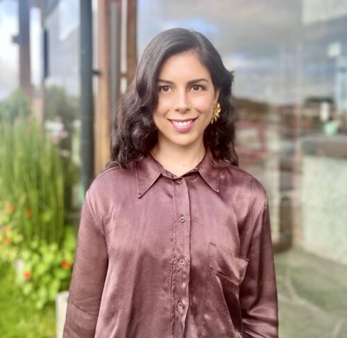
<svg viewBox="0 0 347 338">
<path fill-rule="evenodd" d="M 94 337 L 107 269 L 105 233 L 87 192 L 81 211 L 63 338 Z"/>
</svg>

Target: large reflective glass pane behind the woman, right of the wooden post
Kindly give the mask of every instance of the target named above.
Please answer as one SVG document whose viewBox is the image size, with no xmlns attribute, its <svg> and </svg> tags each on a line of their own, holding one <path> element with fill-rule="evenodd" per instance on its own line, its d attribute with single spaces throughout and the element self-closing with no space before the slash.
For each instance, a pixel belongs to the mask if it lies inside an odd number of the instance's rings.
<svg viewBox="0 0 347 338">
<path fill-rule="evenodd" d="M 280 337 L 344 337 L 347 1 L 139 0 L 139 54 L 177 26 L 235 71 L 239 163 L 269 195 Z"/>
</svg>

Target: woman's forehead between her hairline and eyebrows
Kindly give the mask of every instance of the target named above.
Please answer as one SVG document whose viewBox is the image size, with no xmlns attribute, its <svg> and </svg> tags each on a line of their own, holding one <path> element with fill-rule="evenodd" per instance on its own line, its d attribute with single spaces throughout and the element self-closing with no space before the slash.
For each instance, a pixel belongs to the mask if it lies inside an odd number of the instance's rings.
<svg viewBox="0 0 347 338">
<path fill-rule="evenodd" d="M 194 51 L 185 51 L 167 58 L 162 64 L 159 71 L 159 79 L 182 79 L 182 78 L 200 78 L 208 77 L 211 74 Z"/>
</svg>

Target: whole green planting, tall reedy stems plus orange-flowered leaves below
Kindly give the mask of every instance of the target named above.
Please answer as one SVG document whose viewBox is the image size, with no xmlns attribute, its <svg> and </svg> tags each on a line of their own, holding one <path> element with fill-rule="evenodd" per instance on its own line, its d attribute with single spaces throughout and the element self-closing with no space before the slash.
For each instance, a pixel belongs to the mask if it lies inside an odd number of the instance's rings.
<svg viewBox="0 0 347 338">
<path fill-rule="evenodd" d="M 42 309 L 69 288 L 76 239 L 65 211 L 76 165 L 20 91 L 0 102 L 0 158 L 0 261 L 17 273 L 22 264 L 20 287 Z"/>
</svg>

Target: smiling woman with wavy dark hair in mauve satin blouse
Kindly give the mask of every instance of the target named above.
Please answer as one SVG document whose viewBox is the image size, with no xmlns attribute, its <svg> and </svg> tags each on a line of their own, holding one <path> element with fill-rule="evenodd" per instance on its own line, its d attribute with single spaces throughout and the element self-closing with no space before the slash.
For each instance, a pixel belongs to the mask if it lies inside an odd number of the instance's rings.
<svg viewBox="0 0 347 338">
<path fill-rule="evenodd" d="M 232 73 L 200 33 L 144 50 L 85 196 L 64 337 L 277 337 L 262 185 L 237 167 Z"/>
</svg>

